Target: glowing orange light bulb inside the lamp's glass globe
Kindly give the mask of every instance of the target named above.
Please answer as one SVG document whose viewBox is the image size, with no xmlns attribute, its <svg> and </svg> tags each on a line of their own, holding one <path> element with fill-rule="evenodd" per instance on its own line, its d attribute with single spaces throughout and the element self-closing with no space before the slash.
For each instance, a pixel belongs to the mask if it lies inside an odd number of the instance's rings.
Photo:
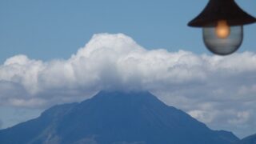
<svg viewBox="0 0 256 144">
<path fill-rule="evenodd" d="M 215 34 L 218 38 L 228 38 L 230 36 L 230 26 L 228 26 L 225 20 L 218 21 L 218 25 L 215 28 Z"/>
</svg>

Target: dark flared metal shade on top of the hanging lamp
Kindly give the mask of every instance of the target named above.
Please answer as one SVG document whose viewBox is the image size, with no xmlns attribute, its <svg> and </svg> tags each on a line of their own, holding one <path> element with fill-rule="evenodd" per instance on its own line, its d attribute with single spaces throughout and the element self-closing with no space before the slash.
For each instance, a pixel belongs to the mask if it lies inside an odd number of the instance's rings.
<svg viewBox="0 0 256 144">
<path fill-rule="evenodd" d="M 210 0 L 206 8 L 188 26 L 217 26 L 219 20 L 226 20 L 229 26 L 242 26 L 256 22 L 256 18 L 243 11 L 234 0 Z"/>
</svg>

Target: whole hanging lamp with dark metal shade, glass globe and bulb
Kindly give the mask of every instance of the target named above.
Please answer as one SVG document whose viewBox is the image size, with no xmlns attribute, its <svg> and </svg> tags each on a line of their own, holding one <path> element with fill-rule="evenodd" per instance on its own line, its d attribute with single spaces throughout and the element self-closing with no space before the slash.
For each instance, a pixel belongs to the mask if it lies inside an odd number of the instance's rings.
<svg viewBox="0 0 256 144">
<path fill-rule="evenodd" d="M 234 0 L 210 0 L 188 26 L 202 27 L 207 49 L 214 54 L 227 55 L 241 46 L 243 25 L 254 22 L 256 18 L 243 11 Z"/>
</svg>

